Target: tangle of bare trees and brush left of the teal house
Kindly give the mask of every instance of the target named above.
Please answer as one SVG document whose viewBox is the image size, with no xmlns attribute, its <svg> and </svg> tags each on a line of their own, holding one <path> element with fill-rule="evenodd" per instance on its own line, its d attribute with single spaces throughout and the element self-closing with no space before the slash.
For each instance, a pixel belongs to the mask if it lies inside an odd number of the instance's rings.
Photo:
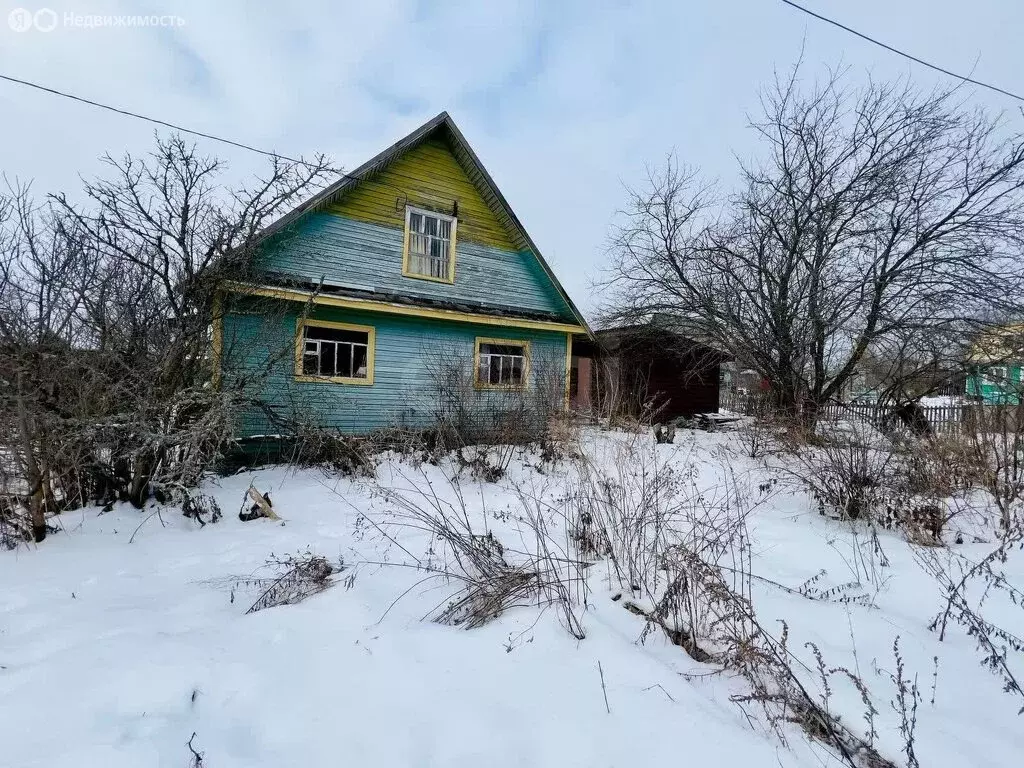
<svg viewBox="0 0 1024 768">
<path fill-rule="evenodd" d="M 194 482 L 231 434 L 240 382 L 219 391 L 218 286 L 253 268 L 258 233 L 326 182 L 327 160 L 273 159 L 234 188 L 179 136 L 106 157 L 84 202 L 0 199 L 0 452 L 47 511 L 154 483 Z"/>
</svg>

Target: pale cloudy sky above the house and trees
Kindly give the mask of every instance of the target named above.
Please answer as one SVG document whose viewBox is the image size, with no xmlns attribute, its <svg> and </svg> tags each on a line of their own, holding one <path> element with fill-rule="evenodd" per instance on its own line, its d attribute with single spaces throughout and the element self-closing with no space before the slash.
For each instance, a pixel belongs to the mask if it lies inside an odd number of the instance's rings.
<svg viewBox="0 0 1024 768">
<path fill-rule="evenodd" d="M 922 58 L 1024 91 L 1021 0 L 806 0 Z M 14 7 L 56 11 L 15 32 Z M 174 14 L 173 28 L 67 27 L 65 13 Z M 114 2 L 0 0 L 0 73 L 286 155 L 352 168 L 447 110 L 578 304 L 624 183 L 675 150 L 728 183 L 756 151 L 758 89 L 806 40 L 805 75 L 941 76 L 778 0 Z M 1010 111 L 992 93 L 977 100 Z M 0 81 L 0 171 L 74 191 L 154 127 Z M 197 139 L 247 173 L 259 156 Z"/>
</svg>

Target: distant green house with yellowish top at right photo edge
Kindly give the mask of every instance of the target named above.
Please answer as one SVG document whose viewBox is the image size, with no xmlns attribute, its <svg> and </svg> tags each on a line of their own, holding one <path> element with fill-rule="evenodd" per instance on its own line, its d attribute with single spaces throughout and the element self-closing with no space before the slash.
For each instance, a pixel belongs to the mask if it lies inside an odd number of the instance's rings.
<svg viewBox="0 0 1024 768">
<path fill-rule="evenodd" d="M 989 404 L 1017 404 L 1022 391 L 1024 326 L 998 326 L 979 334 L 968 354 L 966 394 Z"/>
</svg>

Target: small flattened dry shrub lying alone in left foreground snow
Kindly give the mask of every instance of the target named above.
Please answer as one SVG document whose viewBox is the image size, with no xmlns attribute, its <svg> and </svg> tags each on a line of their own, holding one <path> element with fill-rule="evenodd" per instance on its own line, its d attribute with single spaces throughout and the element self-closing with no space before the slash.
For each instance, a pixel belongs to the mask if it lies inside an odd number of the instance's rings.
<svg viewBox="0 0 1024 768">
<path fill-rule="evenodd" d="M 237 591 L 247 590 L 259 593 L 247 614 L 278 605 L 293 605 L 332 587 L 331 577 L 344 569 L 342 560 L 332 563 L 309 550 L 281 557 L 271 554 L 257 573 L 231 580 L 231 602 Z"/>
</svg>

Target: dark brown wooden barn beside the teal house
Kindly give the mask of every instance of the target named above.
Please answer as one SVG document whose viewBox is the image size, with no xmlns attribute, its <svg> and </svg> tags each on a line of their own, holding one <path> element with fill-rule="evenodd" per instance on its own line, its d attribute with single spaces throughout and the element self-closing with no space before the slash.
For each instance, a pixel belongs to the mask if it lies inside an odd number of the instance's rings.
<svg viewBox="0 0 1024 768">
<path fill-rule="evenodd" d="M 577 408 L 657 422 L 717 413 L 721 366 L 729 357 L 662 324 L 598 331 L 573 343 L 570 392 Z"/>
</svg>

